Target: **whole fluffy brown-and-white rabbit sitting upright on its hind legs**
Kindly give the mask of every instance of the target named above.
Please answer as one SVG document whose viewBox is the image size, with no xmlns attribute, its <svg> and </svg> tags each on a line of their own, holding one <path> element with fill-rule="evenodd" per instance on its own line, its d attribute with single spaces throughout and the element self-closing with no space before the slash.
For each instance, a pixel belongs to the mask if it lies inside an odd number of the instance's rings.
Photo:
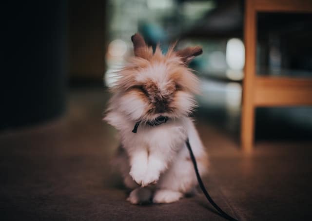
<svg viewBox="0 0 312 221">
<path fill-rule="evenodd" d="M 127 199 L 131 203 L 177 201 L 197 184 L 187 139 L 201 175 L 208 166 L 205 148 L 189 118 L 199 82 L 187 65 L 202 49 L 171 47 L 163 55 L 159 46 L 153 53 L 139 34 L 131 39 L 135 57 L 118 72 L 104 118 L 120 133 L 121 150 L 115 162 L 132 189 Z"/>
</svg>

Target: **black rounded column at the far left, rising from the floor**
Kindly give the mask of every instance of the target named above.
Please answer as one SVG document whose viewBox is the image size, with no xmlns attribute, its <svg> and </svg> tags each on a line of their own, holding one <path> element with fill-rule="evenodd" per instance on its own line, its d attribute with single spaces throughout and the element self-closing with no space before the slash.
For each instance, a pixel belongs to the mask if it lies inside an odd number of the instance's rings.
<svg viewBox="0 0 312 221">
<path fill-rule="evenodd" d="M 35 124 L 65 109 L 67 1 L 12 1 L 2 5 L 0 129 Z"/>
</svg>

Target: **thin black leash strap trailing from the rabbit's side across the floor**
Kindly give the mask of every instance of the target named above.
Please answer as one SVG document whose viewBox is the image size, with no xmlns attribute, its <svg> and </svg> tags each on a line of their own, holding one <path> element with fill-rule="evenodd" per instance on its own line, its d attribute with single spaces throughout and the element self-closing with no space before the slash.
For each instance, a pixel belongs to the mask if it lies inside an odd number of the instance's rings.
<svg viewBox="0 0 312 221">
<path fill-rule="evenodd" d="M 204 186 L 204 183 L 203 181 L 201 180 L 200 178 L 200 175 L 199 175 L 199 172 L 198 172 L 198 168 L 197 168 L 197 163 L 196 163 L 196 160 L 195 160 L 195 157 L 194 157 L 194 154 L 193 154 L 193 151 L 192 151 L 192 148 L 191 148 L 191 145 L 190 145 L 190 142 L 189 142 L 189 139 L 187 139 L 185 141 L 186 143 L 186 146 L 187 148 L 189 149 L 189 152 L 190 152 L 190 156 L 191 156 L 191 159 L 193 161 L 193 165 L 194 165 L 194 169 L 195 169 L 195 173 L 196 173 L 196 177 L 197 177 L 197 181 L 198 181 L 198 184 L 200 186 L 200 189 L 203 191 L 205 197 L 207 198 L 207 200 L 215 207 L 215 209 L 221 214 L 222 217 L 224 217 L 225 219 L 229 220 L 229 221 L 238 221 L 236 219 L 234 219 L 233 217 L 231 217 L 230 215 L 228 215 L 226 212 L 224 212 L 216 203 L 215 201 L 210 197 L 210 195 L 208 194 L 205 186 Z"/>
</svg>

